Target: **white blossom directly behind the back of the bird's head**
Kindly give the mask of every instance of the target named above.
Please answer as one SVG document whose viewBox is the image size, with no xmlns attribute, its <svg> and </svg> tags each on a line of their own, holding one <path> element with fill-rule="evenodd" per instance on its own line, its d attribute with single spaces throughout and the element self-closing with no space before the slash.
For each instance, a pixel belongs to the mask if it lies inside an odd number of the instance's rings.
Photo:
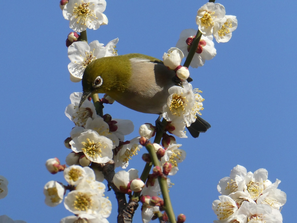
<svg viewBox="0 0 297 223">
<path fill-rule="evenodd" d="M 86 42 L 78 41 L 68 47 L 68 58 L 71 61 L 68 64 L 68 70 L 71 81 L 81 81 L 86 67 L 95 59 L 105 56 L 106 48 L 103 45 L 98 40 L 94 40 L 89 45 Z"/>
</svg>

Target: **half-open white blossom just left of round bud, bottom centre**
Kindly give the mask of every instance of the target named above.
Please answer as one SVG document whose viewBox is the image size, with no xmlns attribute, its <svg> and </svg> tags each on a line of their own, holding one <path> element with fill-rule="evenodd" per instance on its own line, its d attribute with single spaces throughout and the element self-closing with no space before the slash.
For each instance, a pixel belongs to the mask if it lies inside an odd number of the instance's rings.
<svg viewBox="0 0 297 223">
<path fill-rule="evenodd" d="M 113 176 L 113 183 L 120 191 L 125 191 L 130 181 L 138 178 L 137 169 L 121 170 Z"/>
</svg>

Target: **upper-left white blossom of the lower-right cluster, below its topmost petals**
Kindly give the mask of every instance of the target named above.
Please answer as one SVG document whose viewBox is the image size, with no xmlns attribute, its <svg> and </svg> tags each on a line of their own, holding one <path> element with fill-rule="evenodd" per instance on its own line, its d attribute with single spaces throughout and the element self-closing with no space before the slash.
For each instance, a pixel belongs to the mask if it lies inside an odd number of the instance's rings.
<svg viewBox="0 0 297 223">
<path fill-rule="evenodd" d="M 247 169 L 237 165 L 231 170 L 230 177 L 224 177 L 219 181 L 217 189 L 222 195 L 229 195 L 236 191 L 244 190 L 244 178 L 247 175 Z"/>
</svg>

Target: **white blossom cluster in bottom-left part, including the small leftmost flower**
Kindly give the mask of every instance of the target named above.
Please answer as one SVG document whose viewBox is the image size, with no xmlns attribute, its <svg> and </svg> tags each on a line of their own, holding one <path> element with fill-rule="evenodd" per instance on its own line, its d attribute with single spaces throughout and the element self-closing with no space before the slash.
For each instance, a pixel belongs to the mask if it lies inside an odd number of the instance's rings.
<svg viewBox="0 0 297 223">
<path fill-rule="evenodd" d="M 63 218 L 61 223 L 108 222 L 106 218 L 111 213 L 111 202 L 104 197 L 105 185 L 96 181 L 94 171 L 89 167 L 72 165 L 63 173 L 67 186 L 51 180 L 43 189 L 45 203 L 50 207 L 59 205 L 66 190 L 70 191 L 65 196 L 64 206 L 75 216 Z"/>
</svg>

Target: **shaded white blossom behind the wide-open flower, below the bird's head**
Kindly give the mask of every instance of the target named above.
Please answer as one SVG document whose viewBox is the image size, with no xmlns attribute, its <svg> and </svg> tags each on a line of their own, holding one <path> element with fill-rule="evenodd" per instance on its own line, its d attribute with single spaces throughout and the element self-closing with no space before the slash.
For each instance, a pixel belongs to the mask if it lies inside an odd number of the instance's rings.
<svg viewBox="0 0 297 223">
<path fill-rule="evenodd" d="M 119 138 L 109 131 L 108 124 L 99 115 L 97 115 L 97 117 L 94 120 L 92 118 L 89 118 L 86 122 L 85 128 L 94 130 L 100 136 L 105 136 L 108 139 L 110 139 L 113 142 L 113 149 L 119 145 Z"/>
</svg>

